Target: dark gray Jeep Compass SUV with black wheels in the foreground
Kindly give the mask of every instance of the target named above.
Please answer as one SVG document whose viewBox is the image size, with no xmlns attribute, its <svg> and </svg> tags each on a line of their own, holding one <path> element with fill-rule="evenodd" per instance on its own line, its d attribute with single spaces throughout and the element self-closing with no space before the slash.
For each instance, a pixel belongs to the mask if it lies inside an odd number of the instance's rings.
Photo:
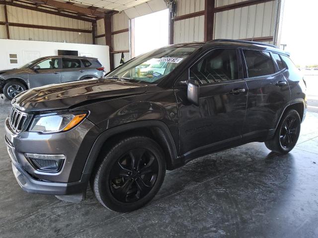
<svg viewBox="0 0 318 238">
<path fill-rule="evenodd" d="M 103 206 L 138 209 L 166 169 L 199 156 L 252 141 L 290 152 L 307 110 L 299 73 L 272 45 L 214 40 L 163 47 L 97 80 L 30 89 L 5 121 L 13 173 L 27 192 L 79 200 L 90 183 Z"/>
</svg>

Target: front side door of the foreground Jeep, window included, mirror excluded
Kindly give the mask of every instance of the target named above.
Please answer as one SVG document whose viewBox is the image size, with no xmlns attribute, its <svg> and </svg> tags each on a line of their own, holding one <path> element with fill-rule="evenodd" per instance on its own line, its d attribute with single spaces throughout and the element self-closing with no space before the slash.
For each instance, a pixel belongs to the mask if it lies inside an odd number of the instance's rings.
<svg viewBox="0 0 318 238">
<path fill-rule="evenodd" d="M 247 86 L 239 50 L 215 49 L 188 72 L 199 86 L 199 105 L 186 99 L 186 87 L 176 89 L 180 154 L 191 159 L 209 151 L 238 144 L 245 118 Z M 177 87 L 176 87 L 177 88 Z"/>
</svg>

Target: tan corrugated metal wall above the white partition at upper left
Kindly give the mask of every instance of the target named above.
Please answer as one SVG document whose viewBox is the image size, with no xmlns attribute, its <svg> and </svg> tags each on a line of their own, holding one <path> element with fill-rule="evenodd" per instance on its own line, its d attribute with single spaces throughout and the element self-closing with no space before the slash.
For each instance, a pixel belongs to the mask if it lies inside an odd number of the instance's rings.
<svg viewBox="0 0 318 238">
<path fill-rule="evenodd" d="M 7 5 L 7 14 L 8 21 L 14 23 L 91 30 L 90 22 L 23 9 L 10 5 Z M 3 5 L 0 5 L 0 19 L 2 19 L 1 21 L 4 21 Z M 14 40 L 29 40 L 31 38 L 34 41 L 66 41 L 68 43 L 92 44 L 92 34 L 90 33 L 44 30 L 12 26 L 9 26 L 9 33 L 10 39 Z M 5 26 L 0 26 L 0 38 L 6 39 Z"/>
</svg>

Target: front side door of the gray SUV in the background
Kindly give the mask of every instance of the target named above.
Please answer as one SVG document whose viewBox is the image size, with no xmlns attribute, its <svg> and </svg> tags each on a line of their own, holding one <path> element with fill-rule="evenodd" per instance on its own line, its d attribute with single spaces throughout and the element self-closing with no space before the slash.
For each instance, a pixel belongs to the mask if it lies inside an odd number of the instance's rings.
<svg viewBox="0 0 318 238">
<path fill-rule="evenodd" d="M 37 63 L 36 65 L 38 65 L 40 68 L 29 73 L 30 88 L 53 83 L 61 83 L 59 60 L 60 59 L 58 58 L 52 58 Z"/>
</svg>

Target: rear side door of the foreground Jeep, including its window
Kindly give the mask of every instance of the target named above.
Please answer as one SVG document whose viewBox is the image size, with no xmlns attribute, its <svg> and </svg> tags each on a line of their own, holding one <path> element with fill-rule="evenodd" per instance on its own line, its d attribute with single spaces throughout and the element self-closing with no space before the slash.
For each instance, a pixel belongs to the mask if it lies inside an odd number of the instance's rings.
<svg viewBox="0 0 318 238">
<path fill-rule="evenodd" d="M 269 51 L 242 49 L 241 53 L 248 87 L 243 141 L 264 140 L 275 132 L 291 99 L 288 81 L 283 75 L 286 68 L 278 68 Z"/>
</svg>

